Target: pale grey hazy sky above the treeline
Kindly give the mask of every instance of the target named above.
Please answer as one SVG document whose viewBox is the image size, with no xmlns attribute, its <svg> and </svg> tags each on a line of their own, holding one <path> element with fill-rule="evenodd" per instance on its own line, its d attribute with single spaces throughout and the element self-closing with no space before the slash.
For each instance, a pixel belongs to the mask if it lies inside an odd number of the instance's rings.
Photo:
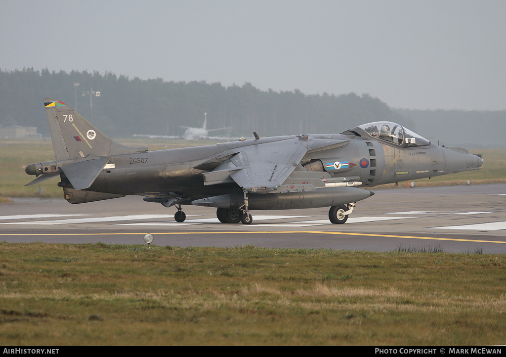
<svg viewBox="0 0 506 357">
<path fill-rule="evenodd" d="M 0 68 L 500 110 L 505 19 L 504 0 L 1 0 Z"/>
</svg>

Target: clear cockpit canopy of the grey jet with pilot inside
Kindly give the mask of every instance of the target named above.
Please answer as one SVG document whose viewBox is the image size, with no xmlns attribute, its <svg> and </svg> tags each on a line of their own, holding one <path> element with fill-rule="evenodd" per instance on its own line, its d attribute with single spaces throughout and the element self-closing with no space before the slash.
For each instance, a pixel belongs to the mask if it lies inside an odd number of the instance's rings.
<svg viewBox="0 0 506 357">
<path fill-rule="evenodd" d="M 349 132 L 357 133 L 362 137 L 370 136 L 401 147 L 427 146 L 431 143 L 418 134 L 392 122 L 368 123 L 351 129 Z"/>
</svg>

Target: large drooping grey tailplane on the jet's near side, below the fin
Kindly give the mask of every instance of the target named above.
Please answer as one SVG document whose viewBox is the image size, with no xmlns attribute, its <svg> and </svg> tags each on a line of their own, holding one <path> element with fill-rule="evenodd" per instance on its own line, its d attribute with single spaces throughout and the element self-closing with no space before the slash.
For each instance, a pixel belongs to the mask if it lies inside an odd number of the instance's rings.
<svg viewBox="0 0 506 357">
<path fill-rule="evenodd" d="M 104 166 L 111 160 L 109 157 L 93 158 L 75 164 L 65 165 L 61 169 L 76 190 L 90 187 Z"/>
</svg>

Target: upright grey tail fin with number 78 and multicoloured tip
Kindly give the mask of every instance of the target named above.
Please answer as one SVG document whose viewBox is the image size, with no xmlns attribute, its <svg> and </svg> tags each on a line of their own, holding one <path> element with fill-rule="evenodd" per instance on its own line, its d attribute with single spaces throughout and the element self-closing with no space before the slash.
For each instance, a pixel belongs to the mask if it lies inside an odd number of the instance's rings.
<svg viewBox="0 0 506 357">
<path fill-rule="evenodd" d="M 109 139 L 77 111 L 56 99 L 45 98 L 49 131 L 56 160 L 92 156 L 109 156 L 147 151 L 147 147 L 130 147 Z"/>
</svg>

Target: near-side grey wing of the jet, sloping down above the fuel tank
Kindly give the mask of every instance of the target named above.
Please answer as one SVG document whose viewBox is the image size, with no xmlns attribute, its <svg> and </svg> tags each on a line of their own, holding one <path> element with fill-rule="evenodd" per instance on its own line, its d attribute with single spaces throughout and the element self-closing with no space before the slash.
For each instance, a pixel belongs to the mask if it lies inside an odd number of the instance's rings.
<svg viewBox="0 0 506 357">
<path fill-rule="evenodd" d="M 336 145 L 343 146 L 347 143 L 346 140 L 336 143 L 335 140 L 330 142 L 321 139 L 307 140 L 307 137 L 303 137 L 244 146 L 215 170 L 202 174 L 204 185 L 233 180 L 248 192 L 268 193 L 275 190 L 282 192 L 285 191 L 281 187 L 283 182 L 299 167 L 307 152 Z M 307 185 L 304 189 L 316 188 Z"/>
</svg>

